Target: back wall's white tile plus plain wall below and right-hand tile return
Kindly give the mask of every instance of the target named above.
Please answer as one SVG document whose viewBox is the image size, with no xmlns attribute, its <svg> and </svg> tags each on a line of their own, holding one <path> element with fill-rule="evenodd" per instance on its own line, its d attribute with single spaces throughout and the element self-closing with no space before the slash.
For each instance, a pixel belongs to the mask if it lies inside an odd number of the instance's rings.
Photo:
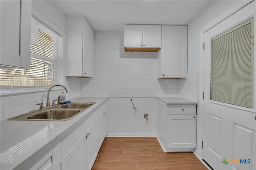
<svg viewBox="0 0 256 170">
<path fill-rule="evenodd" d="M 94 32 L 94 76 L 80 82 L 83 97 L 111 97 L 110 136 L 156 132 L 156 98 L 148 97 L 197 101 L 198 95 L 198 73 L 189 74 L 187 79 L 157 79 L 157 54 L 124 52 L 123 32 Z M 133 113 L 130 99 L 139 107 L 138 116 Z M 146 125 L 143 115 L 149 111 L 152 113 Z"/>
</svg>

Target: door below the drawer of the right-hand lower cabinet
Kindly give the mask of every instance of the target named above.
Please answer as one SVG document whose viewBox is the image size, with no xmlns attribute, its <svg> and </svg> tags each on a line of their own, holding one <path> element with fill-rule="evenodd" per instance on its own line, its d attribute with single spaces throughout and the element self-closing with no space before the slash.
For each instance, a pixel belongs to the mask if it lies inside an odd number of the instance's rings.
<svg viewBox="0 0 256 170">
<path fill-rule="evenodd" d="M 196 147 L 196 115 L 167 115 L 166 147 Z"/>
</svg>

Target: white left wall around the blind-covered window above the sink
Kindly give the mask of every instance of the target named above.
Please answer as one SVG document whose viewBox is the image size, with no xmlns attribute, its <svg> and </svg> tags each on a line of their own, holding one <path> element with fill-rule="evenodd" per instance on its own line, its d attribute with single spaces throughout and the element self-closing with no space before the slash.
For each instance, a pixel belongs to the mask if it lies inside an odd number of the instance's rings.
<svg viewBox="0 0 256 170">
<path fill-rule="evenodd" d="M 52 28 L 54 31 L 61 34 L 64 38 L 64 49 L 65 49 L 65 38 L 66 38 L 66 15 L 62 12 L 57 6 L 54 5 L 51 1 L 44 0 L 33 0 L 32 1 L 32 15 L 38 20 Z M 65 65 L 65 50 L 64 56 L 62 58 L 62 65 Z M 66 94 L 66 99 L 74 99 L 80 97 L 80 80 L 79 79 L 65 79 L 63 69 L 62 75 L 63 82 L 62 84 L 66 86 L 69 90 L 69 93 Z M 71 91 L 70 91 L 71 88 Z M 14 89 L 10 89 L 14 91 Z M 64 90 L 64 89 L 63 89 Z M 61 90 L 52 90 L 50 92 L 50 103 L 53 99 L 57 99 L 58 95 L 61 93 Z M 44 106 L 46 105 L 46 95 L 47 89 L 36 90 L 29 89 L 28 91 L 19 91 L 15 94 L 4 95 L 1 89 L 0 96 L 0 120 L 6 120 L 10 117 L 21 115 L 35 109 L 39 109 L 39 106 L 36 106 L 36 103 L 43 102 Z"/>
</svg>

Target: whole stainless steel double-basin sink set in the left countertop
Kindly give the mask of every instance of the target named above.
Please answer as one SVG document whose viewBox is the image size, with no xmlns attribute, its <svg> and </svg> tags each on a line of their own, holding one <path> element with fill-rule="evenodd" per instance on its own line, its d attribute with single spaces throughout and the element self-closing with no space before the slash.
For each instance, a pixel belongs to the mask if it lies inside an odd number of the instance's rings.
<svg viewBox="0 0 256 170">
<path fill-rule="evenodd" d="M 32 111 L 8 120 L 16 121 L 69 121 L 95 103 L 68 103 L 60 106 L 46 107 L 44 111 Z"/>
</svg>

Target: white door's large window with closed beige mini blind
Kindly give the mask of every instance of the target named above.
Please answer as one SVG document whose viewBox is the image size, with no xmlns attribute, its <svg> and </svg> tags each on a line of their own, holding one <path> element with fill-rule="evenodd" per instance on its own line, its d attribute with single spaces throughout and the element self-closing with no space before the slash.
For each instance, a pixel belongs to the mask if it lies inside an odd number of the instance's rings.
<svg viewBox="0 0 256 170">
<path fill-rule="evenodd" d="M 253 108 L 254 18 L 211 40 L 211 100 Z"/>
</svg>

